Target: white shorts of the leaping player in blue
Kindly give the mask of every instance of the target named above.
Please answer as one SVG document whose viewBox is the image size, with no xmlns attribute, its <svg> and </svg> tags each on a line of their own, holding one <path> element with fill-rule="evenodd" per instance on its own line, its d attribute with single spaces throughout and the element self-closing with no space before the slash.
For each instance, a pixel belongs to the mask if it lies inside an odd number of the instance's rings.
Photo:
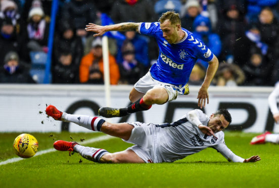
<svg viewBox="0 0 279 188">
<path fill-rule="evenodd" d="M 142 93 L 146 93 L 149 89 L 157 87 L 162 87 L 166 89 L 168 93 L 168 101 L 173 101 L 177 98 L 177 96 L 183 95 L 185 90 L 184 85 L 181 85 L 181 87 L 177 87 L 170 83 L 164 83 L 155 80 L 154 78 L 152 78 L 150 72 L 148 72 L 145 76 L 143 76 L 134 84 L 135 90 Z"/>
</svg>

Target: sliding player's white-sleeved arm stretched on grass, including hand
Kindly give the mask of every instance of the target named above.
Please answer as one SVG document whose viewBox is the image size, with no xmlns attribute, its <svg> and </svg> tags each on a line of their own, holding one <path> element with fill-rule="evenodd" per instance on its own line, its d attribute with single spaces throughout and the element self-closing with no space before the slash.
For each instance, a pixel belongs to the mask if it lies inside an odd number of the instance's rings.
<svg viewBox="0 0 279 188">
<path fill-rule="evenodd" d="M 232 151 L 230 151 L 230 149 L 228 149 L 228 147 L 224 143 L 220 143 L 214 146 L 213 148 L 215 148 L 218 152 L 220 152 L 222 156 L 224 156 L 229 162 L 233 161 L 239 163 L 249 163 L 249 162 L 257 162 L 261 160 L 261 158 L 258 155 L 252 156 L 248 159 L 243 159 L 237 156 L 236 154 L 234 154 Z"/>
</svg>

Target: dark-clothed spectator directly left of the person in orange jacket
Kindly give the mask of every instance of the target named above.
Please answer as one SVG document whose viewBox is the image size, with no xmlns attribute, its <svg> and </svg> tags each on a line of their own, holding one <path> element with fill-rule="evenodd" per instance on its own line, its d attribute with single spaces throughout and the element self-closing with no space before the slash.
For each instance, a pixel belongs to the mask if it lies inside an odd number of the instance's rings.
<svg viewBox="0 0 279 188">
<path fill-rule="evenodd" d="M 53 83 L 78 83 L 77 65 L 73 63 L 71 51 L 60 53 L 59 62 L 54 66 Z"/>
</svg>

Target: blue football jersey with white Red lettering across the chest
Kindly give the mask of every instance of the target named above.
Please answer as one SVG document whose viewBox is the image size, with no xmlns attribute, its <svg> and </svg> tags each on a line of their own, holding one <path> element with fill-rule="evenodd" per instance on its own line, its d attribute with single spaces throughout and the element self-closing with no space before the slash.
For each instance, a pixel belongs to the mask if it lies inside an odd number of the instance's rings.
<svg viewBox="0 0 279 188">
<path fill-rule="evenodd" d="M 141 34 L 154 36 L 160 49 L 157 62 L 150 68 L 152 77 L 178 87 L 188 82 L 197 59 L 210 62 L 214 56 L 203 41 L 194 37 L 190 31 L 184 28 L 182 30 L 185 37 L 169 44 L 163 37 L 159 22 L 142 22 L 138 27 Z"/>
</svg>

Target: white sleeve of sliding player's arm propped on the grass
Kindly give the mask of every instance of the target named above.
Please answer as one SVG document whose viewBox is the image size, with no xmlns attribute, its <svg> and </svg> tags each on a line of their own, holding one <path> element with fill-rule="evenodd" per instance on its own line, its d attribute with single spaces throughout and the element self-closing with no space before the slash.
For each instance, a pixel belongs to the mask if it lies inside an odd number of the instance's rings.
<svg viewBox="0 0 279 188">
<path fill-rule="evenodd" d="M 223 134 L 224 135 L 224 134 Z M 228 147 L 225 145 L 224 136 L 222 136 L 222 140 L 219 144 L 213 146 L 222 156 L 224 156 L 229 162 L 239 162 L 243 163 L 244 159 L 234 154 Z"/>
</svg>

